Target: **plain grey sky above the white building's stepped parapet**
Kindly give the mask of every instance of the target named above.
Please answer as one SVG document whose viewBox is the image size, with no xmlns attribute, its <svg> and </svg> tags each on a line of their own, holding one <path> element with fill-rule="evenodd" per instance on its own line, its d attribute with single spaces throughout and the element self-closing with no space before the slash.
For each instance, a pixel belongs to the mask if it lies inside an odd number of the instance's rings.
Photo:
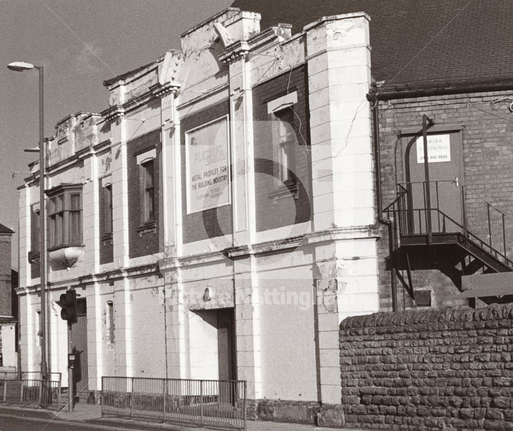
<svg viewBox="0 0 513 431">
<path fill-rule="evenodd" d="M 18 268 L 18 192 L 38 146 L 38 75 L 12 61 L 44 66 L 45 136 L 77 112 L 108 107 L 103 81 L 150 63 L 180 34 L 231 0 L 0 0 L 0 223 L 13 235 Z M 14 173 L 14 177 L 13 177 Z"/>
</svg>

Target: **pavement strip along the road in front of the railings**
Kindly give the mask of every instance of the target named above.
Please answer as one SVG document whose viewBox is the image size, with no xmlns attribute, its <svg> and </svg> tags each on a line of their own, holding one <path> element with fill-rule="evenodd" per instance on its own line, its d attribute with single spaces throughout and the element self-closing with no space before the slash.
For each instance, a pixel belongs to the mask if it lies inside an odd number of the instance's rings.
<svg viewBox="0 0 513 431">
<path fill-rule="evenodd" d="M 30 418 L 37 421 L 67 422 L 80 424 L 92 429 L 106 430 L 145 430 L 145 431 L 209 431 L 210 428 L 188 427 L 173 424 L 159 424 L 154 422 L 131 421 L 123 419 L 102 419 L 102 406 L 91 404 L 76 404 L 73 411 L 65 407 L 60 412 L 43 408 L 30 408 L 28 406 L 0 405 L 0 416 Z M 313 425 L 293 423 L 247 421 L 247 431 L 315 431 L 327 430 Z M 345 431 L 351 431 L 345 428 Z M 355 431 L 355 430 L 353 430 Z M 358 431 L 364 431 L 359 429 Z"/>
</svg>

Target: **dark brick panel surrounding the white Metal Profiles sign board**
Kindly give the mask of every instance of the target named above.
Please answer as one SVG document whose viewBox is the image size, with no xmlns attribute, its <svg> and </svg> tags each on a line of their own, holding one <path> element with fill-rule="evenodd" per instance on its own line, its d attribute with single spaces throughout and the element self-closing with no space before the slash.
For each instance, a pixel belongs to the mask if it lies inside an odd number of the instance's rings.
<svg viewBox="0 0 513 431">
<path fill-rule="evenodd" d="M 182 145 L 182 216 L 184 243 L 201 241 L 232 233 L 232 206 L 227 205 L 201 213 L 187 215 L 186 166 L 185 166 L 185 132 L 200 127 L 230 112 L 228 101 L 181 119 Z"/>
</svg>

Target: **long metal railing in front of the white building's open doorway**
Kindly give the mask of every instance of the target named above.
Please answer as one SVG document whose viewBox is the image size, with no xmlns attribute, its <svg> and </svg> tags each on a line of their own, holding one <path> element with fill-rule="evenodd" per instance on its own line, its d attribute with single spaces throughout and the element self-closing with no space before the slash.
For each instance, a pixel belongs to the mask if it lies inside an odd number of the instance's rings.
<svg viewBox="0 0 513 431">
<path fill-rule="evenodd" d="M 246 429 L 246 382 L 102 377 L 102 417 Z"/>
</svg>

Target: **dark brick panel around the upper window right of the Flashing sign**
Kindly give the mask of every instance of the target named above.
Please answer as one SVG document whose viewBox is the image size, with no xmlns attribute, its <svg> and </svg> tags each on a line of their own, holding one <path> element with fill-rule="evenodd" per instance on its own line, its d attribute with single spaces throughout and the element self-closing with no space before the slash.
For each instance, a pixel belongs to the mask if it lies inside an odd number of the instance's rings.
<svg viewBox="0 0 513 431">
<path fill-rule="evenodd" d="M 254 158 L 255 203 L 257 208 L 257 231 L 280 228 L 310 220 L 310 133 L 306 66 L 293 69 L 253 89 L 254 115 Z M 288 90 L 287 90 L 288 87 Z M 273 199 L 270 192 L 276 186 L 273 177 L 274 163 L 277 163 L 277 145 L 273 142 L 272 117 L 267 103 L 297 91 L 298 102 L 292 106 L 295 111 L 292 127 L 297 136 L 295 146 L 295 169 L 293 174 L 299 184 L 298 198 L 288 195 L 284 199 Z"/>
</svg>

